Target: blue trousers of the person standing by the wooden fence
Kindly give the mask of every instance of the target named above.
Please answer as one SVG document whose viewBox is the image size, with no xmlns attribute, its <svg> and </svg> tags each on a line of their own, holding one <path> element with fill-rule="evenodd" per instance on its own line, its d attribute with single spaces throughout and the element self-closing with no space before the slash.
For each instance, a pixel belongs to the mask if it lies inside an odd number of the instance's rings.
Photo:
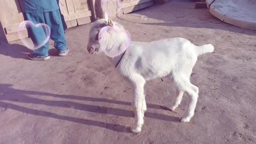
<svg viewBox="0 0 256 144">
<path fill-rule="evenodd" d="M 65 51 L 68 47 L 65 32 L 63 29 L 60 11 L 54 10 L 51 12 L 43 12 L 43 13 L 23 13 L 24 19 L 34 22 L 35 24 L 38 23 L 45 23 L 51 29 L 51 39 L 54 41 L 55 49 L 59 51 Z M 41 38 L 42 33 L 35 28 L 27 28 L 28 35 L 33 42 L 39 41 L 38 39 Z M 41 31 L 42 32 L 42 31 Z M 33 51 L 35 54 L 38 55 L 47 55 L 49 52 L 49 42 L 45 43 L 42 47 L 37 50 Z"/>
</svg>

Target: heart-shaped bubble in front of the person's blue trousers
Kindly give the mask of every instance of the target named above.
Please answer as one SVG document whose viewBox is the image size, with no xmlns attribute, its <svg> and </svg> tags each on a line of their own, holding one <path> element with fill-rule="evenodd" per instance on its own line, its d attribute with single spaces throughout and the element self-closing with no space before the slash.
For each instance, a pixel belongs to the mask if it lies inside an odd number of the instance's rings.
<svg viewBox="0 0 256 144">
<path fill-rule="evenodd" d="M 28 30 L 31 35 L 29 38 L 24 38 L 21 31 Z M 35 23 L 31 21 L 23 21 L 20 23 L 18 28 L 18 36 L 21 42 L 30 50 L 36 50 L 42 47 L 49 41 L 51 29 L 44 23 Z"/>
</svg>

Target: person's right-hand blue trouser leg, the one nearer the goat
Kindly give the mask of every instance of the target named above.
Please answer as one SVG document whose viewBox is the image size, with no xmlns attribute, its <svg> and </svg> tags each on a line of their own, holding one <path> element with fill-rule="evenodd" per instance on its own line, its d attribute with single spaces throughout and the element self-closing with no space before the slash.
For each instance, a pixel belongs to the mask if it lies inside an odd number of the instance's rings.
<svg viewBox="0 0 256 144">
<path fill-rule="evenodd" d="M 57 49 L 59 52 L 68 52 L 68 45 L 65 38 L 60 11 L 55 10 L 45 12 L 44 18 L 45 23 L 51 28 L 51 39 L 54 41 L 55 49 Z"/>
</svg>

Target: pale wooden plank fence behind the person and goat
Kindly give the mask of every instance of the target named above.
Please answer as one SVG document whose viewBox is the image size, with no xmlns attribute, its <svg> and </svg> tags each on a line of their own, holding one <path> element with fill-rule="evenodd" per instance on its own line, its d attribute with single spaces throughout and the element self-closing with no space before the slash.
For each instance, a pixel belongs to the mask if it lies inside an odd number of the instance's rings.
<svg viewBox="0 0 256 144">
<path fill-rule="evenodd" d="M 20 0 L 0 0 L 0 21 L 8 42 L 18 40 L 18 27 L 24 21 Z M 42 0 L 43 1 L 43 0 Z M 60 0 L 59 6 L 66 28 L 90 23 L 95 18 L 94 4 L 98 0 Z M 137 11 L 154 4 L 153 0 L 122 0 L 123 14 Z M 26 28 L 20 32 L 27 38 Z"/>
</svg>

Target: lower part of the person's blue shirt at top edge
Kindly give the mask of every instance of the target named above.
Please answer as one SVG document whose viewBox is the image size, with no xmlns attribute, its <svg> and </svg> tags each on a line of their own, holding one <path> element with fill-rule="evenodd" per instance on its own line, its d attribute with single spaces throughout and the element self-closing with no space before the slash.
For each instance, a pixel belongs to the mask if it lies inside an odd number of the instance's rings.
<svg viewBox="0 0 256 144">
<path fill-rule="evenodd" d="M 20 0 L 21 10 L 25 13 L 50 12 L 59 9 L 59 0 Z"/>
</svg>

